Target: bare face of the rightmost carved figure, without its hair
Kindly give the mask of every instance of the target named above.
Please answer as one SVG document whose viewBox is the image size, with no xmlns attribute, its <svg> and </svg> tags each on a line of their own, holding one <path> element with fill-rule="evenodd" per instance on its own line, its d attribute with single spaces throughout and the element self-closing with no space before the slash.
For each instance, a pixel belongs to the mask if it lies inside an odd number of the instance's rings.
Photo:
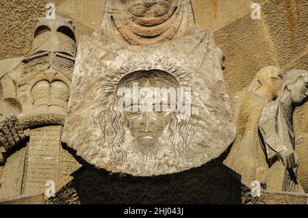
<svg viewBox="0 0 308 218">
<path fill-rule="evenodd" d="M 292 103 L 300 105 L 308 100 L 308 75 L 300 77 L 290 91 Z"/>
</svg>

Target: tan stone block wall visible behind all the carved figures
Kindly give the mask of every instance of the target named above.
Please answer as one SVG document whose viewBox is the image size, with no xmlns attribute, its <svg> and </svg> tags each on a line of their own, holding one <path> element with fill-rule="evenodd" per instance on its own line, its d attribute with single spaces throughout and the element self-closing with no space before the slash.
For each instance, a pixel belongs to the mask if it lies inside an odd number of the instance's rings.
<svg viewBox="0 0 308 218">
<path fill-rule="evenodd" d="M 72 19 L 77 39 L 101 24 L 105 0 L 1 0 L 0 60 L 29 55 L 36 17 L 44 16 L 49 2 Z M 261 4 L 261 20 L 251 18 L 253 2 Z M 226 56 L 224 78 L 231 97 L 263 66 L 307 70 L 307 0 L 192 0 L 192 4 L 198 28 L 211 28 Z M 294 122 L 300 182 L 308 191 L 307 104 L 296 110 Z"/>
</svg>

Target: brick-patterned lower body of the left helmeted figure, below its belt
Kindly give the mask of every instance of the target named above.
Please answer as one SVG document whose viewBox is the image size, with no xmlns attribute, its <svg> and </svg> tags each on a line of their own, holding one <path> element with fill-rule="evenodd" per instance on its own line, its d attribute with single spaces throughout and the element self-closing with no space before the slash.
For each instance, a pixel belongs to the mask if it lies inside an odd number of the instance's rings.
<svg viewBox="0 0 308 218">
<path fill-rule="evenodd" d="M 27 148 L 29 156 L 26 163 L 27 176 L 23 187 L 25 195 L 44 193 L 47 181 L 53 180 L 57 184 L 63 176 L 67 176 L 74 169 L 66 166 L 69 160 L 61 159 L 61 152 L 64 152 L 60 148 L 61 131 L 62 126 L 47 126 L 31 130 Z M 73 165 L 73 159 L 70 161 L 70 165 Z"/>
</svg>

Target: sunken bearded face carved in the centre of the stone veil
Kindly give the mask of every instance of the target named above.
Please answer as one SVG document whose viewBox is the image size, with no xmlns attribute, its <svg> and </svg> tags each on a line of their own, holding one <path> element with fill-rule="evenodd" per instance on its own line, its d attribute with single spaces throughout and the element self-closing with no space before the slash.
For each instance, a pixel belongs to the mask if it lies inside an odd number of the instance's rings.
<svg viewBox="0 0 308 218">
<path fill-rule="evenodd" d="M 172 122 L 177 80 L 167 72 L 150 70 L 129 74 L 123 85 L 129 93 L 120 109 L 125 126 L 139 144 L 155 143 Z"/>
</svg>

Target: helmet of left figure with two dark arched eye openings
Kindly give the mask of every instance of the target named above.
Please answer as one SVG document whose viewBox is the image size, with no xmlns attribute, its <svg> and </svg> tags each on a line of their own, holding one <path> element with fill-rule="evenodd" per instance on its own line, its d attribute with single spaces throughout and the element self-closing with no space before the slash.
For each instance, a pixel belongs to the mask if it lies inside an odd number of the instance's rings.
<svg viewBox="0 0 308 218">
<path fill-rule="evenodd" d="M 77 46 L 72 21 L 56 14 L 55 19 L 38 18 L 32 42 L 32 53 L 60 52 L 75 57 Z"/>
</svg>

